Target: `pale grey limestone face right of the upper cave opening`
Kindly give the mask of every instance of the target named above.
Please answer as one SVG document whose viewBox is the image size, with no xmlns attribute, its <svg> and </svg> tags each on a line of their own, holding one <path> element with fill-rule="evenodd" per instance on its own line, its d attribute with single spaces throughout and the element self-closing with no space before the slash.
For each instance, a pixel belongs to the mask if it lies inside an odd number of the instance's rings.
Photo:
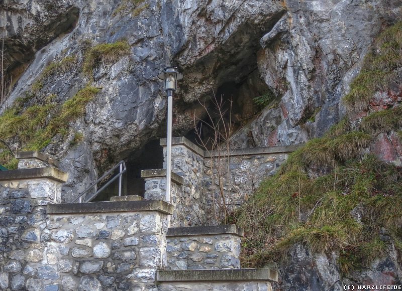
<svg viewBox="0 0 402 291">
<path fill-rule="evenodd" d="M 345 114 L 340 99 L 357 75 L 373 37 L 400 4 L 286 1 L 287 13 L 261 38 L 261 78 L 282 96 L 235 138 L 237 147 L 304 142 Z M 391 8 L 391 9 L 389 9 Z M 275 118 L 280 113 L 281 119 Z"/>
</svg>

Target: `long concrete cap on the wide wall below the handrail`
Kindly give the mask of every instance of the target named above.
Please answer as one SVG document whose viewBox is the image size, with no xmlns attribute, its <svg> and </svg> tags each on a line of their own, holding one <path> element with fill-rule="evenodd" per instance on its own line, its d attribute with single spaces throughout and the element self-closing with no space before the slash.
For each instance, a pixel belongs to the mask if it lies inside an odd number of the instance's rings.
<svg viewBox="0 0 402 291">
<path fill-rule="evenodd" d="M 172 215 L 173 206 L 162 200 L 49 204 L 49 214 L 157 211 Z"/>
</svg>

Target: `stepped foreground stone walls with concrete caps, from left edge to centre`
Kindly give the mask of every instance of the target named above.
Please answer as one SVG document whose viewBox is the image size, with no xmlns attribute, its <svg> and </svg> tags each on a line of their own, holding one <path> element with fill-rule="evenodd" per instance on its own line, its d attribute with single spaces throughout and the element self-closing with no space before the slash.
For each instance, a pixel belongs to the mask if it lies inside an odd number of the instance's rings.
<svg viewBox="0 0 402 291">
<path fill-rule="evenodd" d="M 166 178 L 156 172 L 146 179 L 147 198 L 157 200 L 67 204 L 60 197 L 67 174 L 56 161 L 38 153 L 20 159 L 22 169 L 0 172 L 1 290 L 245 291 L 270 290 L 276 280 L 268 269 L 239 269 L 242 231 L 234 225 L 169 228 L 190 221 L 183 201 L 204 199 L 188 186 L 192 174 L 173 175 L 181 194 L 172 204 L 162 201 Z"/>
</svg>

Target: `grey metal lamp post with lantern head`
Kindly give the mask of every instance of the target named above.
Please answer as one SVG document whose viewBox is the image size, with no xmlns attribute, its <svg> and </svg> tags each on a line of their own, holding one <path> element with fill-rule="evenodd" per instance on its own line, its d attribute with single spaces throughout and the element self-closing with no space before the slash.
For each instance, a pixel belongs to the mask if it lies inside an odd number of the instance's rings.
<svg viewBox="0 0 402 291">
<path fill-rule="evenodd" d="M 173 91 L 176 91 L 177 80 L 181 80 L 183 75 L 177 72 L 176 67 L 167 67 L 165 71 L 158 75 L 158 78 L 165 81 L 165 91 L 167 94 L 167 153 L 166 153 L 166 202 L 170 203 L 170 184 L 172 168 L 172 111 L 173 111 Z"/>
</svg>

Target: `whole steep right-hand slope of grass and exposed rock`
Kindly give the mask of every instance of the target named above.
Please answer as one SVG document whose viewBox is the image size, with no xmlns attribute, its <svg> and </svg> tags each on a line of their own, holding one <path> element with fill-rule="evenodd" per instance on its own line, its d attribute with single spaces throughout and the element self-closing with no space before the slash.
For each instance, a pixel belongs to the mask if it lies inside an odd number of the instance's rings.
<svg viewBox="0 0 402 291">
<path fill-rule="evenodd" d="M 277 263 L 284 290 L 295 279 L 311 289 L 402 282 L 401 36 L 401 22 L 378 36 L 343 98 L 349 115 L 294 152 L 236 215 L 244 266 Z M 378 94 L 393 102 L 378 106 Z M 384 134 L 397 136 L 395 156 L 377 152 Z M 304 268 L 315 283 L 294 277 Z"/>
</svg>

